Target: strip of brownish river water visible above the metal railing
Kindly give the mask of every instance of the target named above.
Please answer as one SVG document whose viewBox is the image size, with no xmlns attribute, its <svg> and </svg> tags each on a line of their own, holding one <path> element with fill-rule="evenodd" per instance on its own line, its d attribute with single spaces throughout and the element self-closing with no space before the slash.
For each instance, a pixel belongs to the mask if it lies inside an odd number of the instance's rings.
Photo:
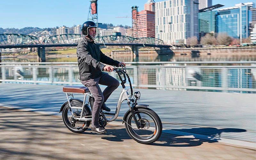
<svg viewBox="0 0 256 160">
<path fill-rule="evenodd" d="M 68 54 L 67 54 L 68 55 Z M 154 61 L 256 61 L 255 54 L 212 54 L 212 55 L 140 55 L 114 56 L 113 59 L 125 62 L 154 62 Z M 36 57 L 2 58 L 2 62 L 37 62 Z M 46 62 L 77 62 L 75 55 L 47 56 Z"/>
</svg>

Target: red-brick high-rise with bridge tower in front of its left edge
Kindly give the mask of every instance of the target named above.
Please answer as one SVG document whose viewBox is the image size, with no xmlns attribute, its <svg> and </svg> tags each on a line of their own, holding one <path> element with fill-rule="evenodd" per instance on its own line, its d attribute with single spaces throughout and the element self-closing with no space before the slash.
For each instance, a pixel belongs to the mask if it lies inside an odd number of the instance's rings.
<svg viewBox="0 0 256 160">
<path fill-rule="evenodd" d="M 155 37 L 155 12 L 132 6 L 133 37 Z"/>
</svg>

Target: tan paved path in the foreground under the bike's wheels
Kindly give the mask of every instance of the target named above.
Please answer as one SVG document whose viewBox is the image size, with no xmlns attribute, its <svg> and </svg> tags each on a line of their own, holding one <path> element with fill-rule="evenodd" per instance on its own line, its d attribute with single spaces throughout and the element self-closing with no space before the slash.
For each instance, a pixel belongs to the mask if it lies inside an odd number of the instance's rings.
<svg viewBox="0 0 256 160">
<path fill-rule="evenodd" d="M 0 159 L 256 159 L 253 148 L 163 133 L 143 145 L 121 123 L 105 135 L 70 132 L 60 116 L 0 107 Z"/>
</svg>

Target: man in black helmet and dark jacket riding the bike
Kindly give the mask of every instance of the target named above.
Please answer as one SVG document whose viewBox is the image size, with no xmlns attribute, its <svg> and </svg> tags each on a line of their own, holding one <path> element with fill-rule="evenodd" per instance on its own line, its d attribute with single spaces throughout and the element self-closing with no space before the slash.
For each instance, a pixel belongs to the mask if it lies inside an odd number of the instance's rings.
<svg viewBox="0 0 256 160">
<path fill-rule="evenodd" d="M 112 66 L 118 67 L 121 64 L 125 66 L 125 63 L 113 60 L 100 51 L 100 47 L 93 41 L 96 36 L 96 29 L 97 26 L 93 21 L 84 22 L 82 25 L 82 34 L 84 37 L 77 45 L 76 55 L 80 80 L 84 86 L 88 87 L 94 97 L 92 132 L 104 134 L 107 130 L 103 126 L 101 127 L 98 122 L 100 108 L 110 111 L 110 108 L 106 106 L 105 102 L 120 83 L 114 77 L 102 71 L 112 72 L 114 69 Z M 107 86 L 103 92 L 101 92 L 99 84 Z"/>
</svg>

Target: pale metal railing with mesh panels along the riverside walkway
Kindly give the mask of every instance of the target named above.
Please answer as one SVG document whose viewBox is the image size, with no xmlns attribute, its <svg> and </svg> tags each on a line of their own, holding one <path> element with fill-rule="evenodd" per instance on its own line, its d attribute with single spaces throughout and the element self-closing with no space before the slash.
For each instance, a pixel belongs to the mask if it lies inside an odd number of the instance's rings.
<svg viewBox="0 0 256 160">
<path fill-rule="evenodd" d="M 134 87 L 256 92 L 256 62 L 254 61 L 126 63 L 127 72 Z M 2 83 L 82 85 L 78 79 L 79 71 L 76 62 L 0 63 L 0 65 L 0 82 Z M 114 72 L 109 74 L 118 79 Z"/>
</svg>

